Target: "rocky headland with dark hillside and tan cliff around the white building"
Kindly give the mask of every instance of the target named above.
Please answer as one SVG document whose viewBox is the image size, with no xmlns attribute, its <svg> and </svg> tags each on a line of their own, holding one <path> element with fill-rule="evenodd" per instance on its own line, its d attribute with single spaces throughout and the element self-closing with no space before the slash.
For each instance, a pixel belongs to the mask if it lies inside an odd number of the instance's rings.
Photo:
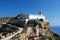
<svg viewBox="0 0 60 40">
<path fill-rule="evenodd" d="M 17 17 L 0 19 L 0 28 L 2 28 L 3 24 L 22 27 L 23 31 L 21 34 L 18 34 L 18 38 L 16 38 L 17 40 L 60 40 L 60 36 L 50 31 L 48 21 L 37 19 L 37 21 L 29 20 L 26 23 L 25 20 L 22 20 L 23 16 L 24 14 L 21 14 Z M 1 35 L 2 34 L 0 33 L 0 37 Z M 15 37 L 13 37 L 12 40 L 15 40 Z"/>
</svg>

